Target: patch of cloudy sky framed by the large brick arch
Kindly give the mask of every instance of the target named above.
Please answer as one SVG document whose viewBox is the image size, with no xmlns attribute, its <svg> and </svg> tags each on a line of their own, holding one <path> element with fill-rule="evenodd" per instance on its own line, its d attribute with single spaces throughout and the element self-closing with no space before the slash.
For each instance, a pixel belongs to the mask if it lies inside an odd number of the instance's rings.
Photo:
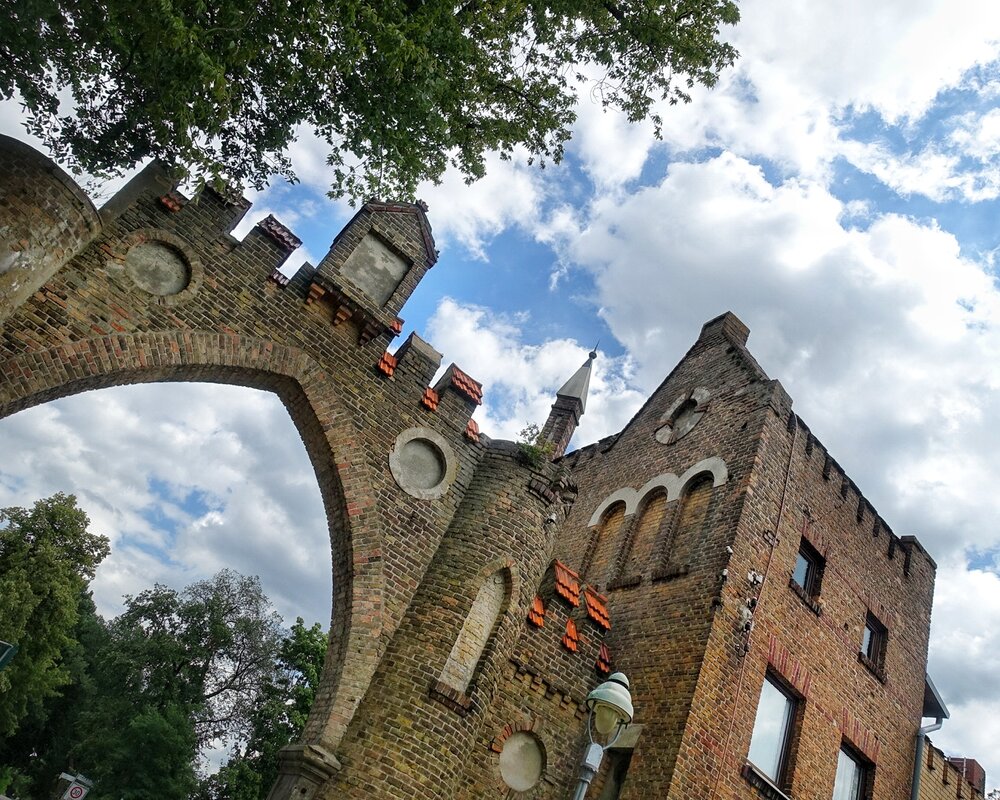
<svg viewBox="0 0 1000 800">
<path fill-rule="evenodd" d="M 259 574 L 279 613 L 326 627 L 326 517 L 298 432 L 272 394 L 146 384 L 64 398 L 0 421 L 0 505 L 75 493 L 112 551 L 93 583 L 123 594 L 224 567 Z"/>
</svg>

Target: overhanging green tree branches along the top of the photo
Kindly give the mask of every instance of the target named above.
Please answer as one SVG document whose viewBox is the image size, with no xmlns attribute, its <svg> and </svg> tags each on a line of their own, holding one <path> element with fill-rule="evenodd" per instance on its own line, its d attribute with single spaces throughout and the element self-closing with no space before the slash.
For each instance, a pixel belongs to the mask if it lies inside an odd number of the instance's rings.
<svg viewBox="0 0 1000 800">
<path fill-rule="evenodd" d="M 630 121 L 737 57 L 734 0 L 20 0 L 0 15 L 0 98 L 71 167 L 156 156 L 258 188 L 294 177 L 298 126 L 331 194 L 410 197 L 484 155 L 558 161 L 580 91 Z M 66 98 L 69 98 L 68 100 Z M 61 102 L 62 101 L 62 102 Z"/>
</svg>

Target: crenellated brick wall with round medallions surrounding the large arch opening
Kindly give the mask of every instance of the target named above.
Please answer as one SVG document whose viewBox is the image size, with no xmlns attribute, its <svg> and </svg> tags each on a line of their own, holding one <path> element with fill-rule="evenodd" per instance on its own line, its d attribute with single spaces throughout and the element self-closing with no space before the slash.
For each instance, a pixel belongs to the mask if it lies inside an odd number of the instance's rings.
<svg viewBox="0 0 1000 800">
<path fill-rule="evenodd" d="M 239 242 L 229 231 L 246 201 L 212 190 L 187 201 L 164 181 L 156 165 L 148 168 L 108 204 L 103 227 L 77 255 L 51 248 L 66 263 L 44 285 L 23 301 L 0 298 L 0 416 L 141 381 L 278 394 L 316 469 L 329 520 L 334 623 L 306 741 L 334 751 L 484 452 L 466 430 L 478 403 L 474 382 L 449 380 L 435 403 L 423 402 L 439 358 L 426 346 L 404 346 L 393 369 L 380 369 L 395 335 L 389 312 L 355 296 L 358 313 L 338 317 L 337 304 L 310 293 L 311 267 L 290 282 L 275 275 L 297 241 L 280 223 L 265 221 Z M 376 222 L 415 270 L 393 295 L 401 303 L 436 258 L 429 229 L 415 207 L 366 207 L 364 223 Z M 49 248 L 48 230 L 37 235 Z M 189 266 L 183 291 L 151 294 L 130 278 L 130 249 L 150 242 Z M 385 324 L 373 328 L 373 319 Z M 450 450 L 453 483 L 438 501 L 415 501 L 389 469 L 397 436 L 412 428 L 436 432 Z"/>
</svg>

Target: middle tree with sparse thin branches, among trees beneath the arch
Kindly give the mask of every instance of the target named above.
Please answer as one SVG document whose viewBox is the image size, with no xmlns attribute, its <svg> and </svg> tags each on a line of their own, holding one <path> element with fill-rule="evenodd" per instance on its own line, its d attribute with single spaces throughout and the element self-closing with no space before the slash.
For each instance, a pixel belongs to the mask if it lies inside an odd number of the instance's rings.
<svg viewBox="0 0 1000 800">
<path fill-rule="evenodd" d="M 260 581 L 232 570 L 182 592 L 158 585 L 126 597 L 75 753 L 95 799 L 185 800 L 199 754 L 250 735 L 277 669 L 280 623 Z"/>
</svg>

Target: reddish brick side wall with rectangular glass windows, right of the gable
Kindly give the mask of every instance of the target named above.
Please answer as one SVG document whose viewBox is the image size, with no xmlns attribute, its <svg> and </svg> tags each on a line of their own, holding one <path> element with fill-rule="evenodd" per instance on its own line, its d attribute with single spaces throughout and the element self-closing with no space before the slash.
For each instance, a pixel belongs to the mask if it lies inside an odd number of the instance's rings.
<svg viewBox="0 0 1000 800">
<path fill-rule="evenodd" d="M 923 703 L 934 563 L 875 514 L 791 414 L 778 385 L 762 421 L 731 579 L 678 758 L 685 782 L 673 784 L 670 796 L 758 796 L 740 767 L 770 672 L 799 696 L 780 788 L 796 800 L 829 798 L 846 745 L 874 771 L 874 797 L 905 797 Z M 790 585 L 803 536 L 825 558 L 815 598 Z M 747 580 L 751 570 L 763 575 L 762 586 Z M 757 607 L 753 631 L 743 637 L 738 612 L 748 597 Z M 888 628 L 884 669 L 859 658 L 869 612 Z"/>
</svg>

